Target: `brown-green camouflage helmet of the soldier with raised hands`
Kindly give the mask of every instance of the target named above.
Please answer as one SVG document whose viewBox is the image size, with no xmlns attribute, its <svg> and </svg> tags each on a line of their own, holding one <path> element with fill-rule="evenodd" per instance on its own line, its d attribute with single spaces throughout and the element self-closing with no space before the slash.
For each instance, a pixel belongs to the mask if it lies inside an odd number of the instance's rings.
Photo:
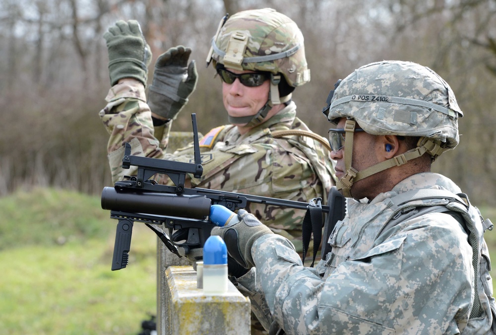
<svg viewBox="0 0 496 335">
<path fill-rule="evenodd" d="M 245 10 L 221 20 L 207 66 L 270 73 L 270 95 L 253 117 L 229 117 L 231 123 L 261 122 L 273 105 L 291 100 L 295 87 L 310 81 L 303 34 L 298 25 L 272 8 Z"/>
</svg>

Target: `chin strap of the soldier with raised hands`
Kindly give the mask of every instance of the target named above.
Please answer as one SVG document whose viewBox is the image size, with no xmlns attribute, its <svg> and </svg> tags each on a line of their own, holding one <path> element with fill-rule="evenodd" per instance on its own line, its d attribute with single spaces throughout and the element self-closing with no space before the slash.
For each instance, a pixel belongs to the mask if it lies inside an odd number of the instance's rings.
<svg viewBox="0 0 496 335">
<path fill-rule="evenodd" d="M 292 93 L 288 94 L 287 96 L 281 98 L 279 97 L 279 82 L 281 81 L 281 75 L 280 74 L 270 74 L 270 91 L 269 91 L 269 98 L 267 99 L 267 102 L 263 107 L 256 113 L 255 115 L 249 115 L 249 116 L 230 116 L 228 115 L 229 122 L 235 125 L 243 125 L 246 124 L 245 127 L 254 127 L 263 122 L 265 120 L 265 117 L 267 117 L 267 114 L 269 111 L 274 107 L 275 105 L 283 104 L 291 100 L 291 97 L 293 96 Z"/>
</svg>

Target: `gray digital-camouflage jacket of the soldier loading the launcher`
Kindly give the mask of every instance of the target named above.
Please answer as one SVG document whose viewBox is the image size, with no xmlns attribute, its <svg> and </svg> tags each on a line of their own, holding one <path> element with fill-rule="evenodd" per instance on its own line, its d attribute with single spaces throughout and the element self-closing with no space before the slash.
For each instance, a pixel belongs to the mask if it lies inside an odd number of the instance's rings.
<svg viewBox="0 0 496 335">
<path fill-rule="evenodd" d="M 463 220 L 446 212 L 391 220 L 396 199 L 424 190 L 460 193 L 449 179 L 422 173 L 369 203 L 349 199 L 329 238 L 332 251 L 316 268 L 303 267 L 284 238 L 257 239 L 251 249 L 256 268 L 237 284 L 264 328 L 275 321 L 286 334 L 491 334 L 495 301 L 479 217 L 468 211 L 479 222 L 477 275 Z M 413 202 L 424 208 L 433 201 Z M 474 318 L 475 286 L 481 314 Z"/>
</svg>

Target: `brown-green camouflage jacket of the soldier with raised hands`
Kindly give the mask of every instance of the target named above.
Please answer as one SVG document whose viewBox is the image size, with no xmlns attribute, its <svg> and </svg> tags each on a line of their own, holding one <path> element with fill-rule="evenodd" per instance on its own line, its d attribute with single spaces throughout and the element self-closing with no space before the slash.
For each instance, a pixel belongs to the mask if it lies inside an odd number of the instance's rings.
<svg viewBox="0 0 496 335">
<path fill-rule="evenodd" d="M 113 182 L 135 174 L 122 169 L 124 142 L 131 154 L 174 161 L 193 161 L 192 146 L 166 153 L 171 122 L 153 127 L 141 84 L 127 81 L 113 86 L 100 117 L 110 134 L 108 157 Z M 201 121 L 202 116 L 198 115 Z M 224 190 L 257 196 L 308 202 L 320 197 L 325 203 L 333 185 L 329 152 L 307 136 L 274 138 L 272 133 L 306 130 L 296 117 L 296 105 L 289 104 L 270 120 L 241 135 L 234 126 L 221 126 L 200 139 L 203 175 L 189 176 L 191 187 Z M 166 176 L 154 176 L 159 183 L 170 183 Z M 247 210 L 274 232 L 289 238 L 301 251 L 301 223 L 305 210 L 250 204 Z M 311 249 L 309 250 L 311 252 Z"/>
</svg>

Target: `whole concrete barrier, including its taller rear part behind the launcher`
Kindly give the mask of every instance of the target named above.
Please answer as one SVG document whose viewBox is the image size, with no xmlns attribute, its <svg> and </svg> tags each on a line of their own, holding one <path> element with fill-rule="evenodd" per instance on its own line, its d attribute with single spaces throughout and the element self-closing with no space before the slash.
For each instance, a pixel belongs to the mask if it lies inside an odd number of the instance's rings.
<svg viewBox="0 0 496 335">
<path fill-rule="evenodd" d="M 167 152 L 190 141 L 192 133 L 171 132 Z M 205 296 L 186 257 L 177 257 L 157 238 L 157 335 L 249 335 L 250 302 L 228 285 L 224 295 Z"/>
</svg>

